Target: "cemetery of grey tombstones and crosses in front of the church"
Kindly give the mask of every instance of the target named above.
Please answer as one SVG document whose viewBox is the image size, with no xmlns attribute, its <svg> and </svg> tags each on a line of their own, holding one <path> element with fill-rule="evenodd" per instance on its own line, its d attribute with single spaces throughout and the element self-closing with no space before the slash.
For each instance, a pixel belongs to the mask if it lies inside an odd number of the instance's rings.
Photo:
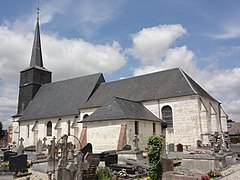
<svg viewBox="0 0 240 180">
<path fill-rule="evenodd" d="M 70 135 L 71 136 L 71 135 Z M 122 150 L 93 153 L 90 143 L 77 149 L 68 141 L 68 135 L 59 140 L 53 137 L 50 144 L 46 138 L 37 142 L 36 146 L 23 147 L 13 145 L 11 149 L 3 148 L 0 152 L 0 179 L 29 177 L 29 168 L 35 172 L 45 173 L 48 180 L 93 180 L 104 179 L 140 179 L 147 178 L 149 159 L 145 150 L 138 147 L 139 138 L 135 136 L 131 145 L 126 144 Z M 211 147 L 203 147 L 184 151 L 181 144 L 168 144 L 161 154 L 162 178 L 172 179 L 187 177 L 201 178 L 204 175 L 221 178 L 223 170 L 238 163 L 237 151 L 223 146 L 218 134 L 212 135 Z"/>
</svg>

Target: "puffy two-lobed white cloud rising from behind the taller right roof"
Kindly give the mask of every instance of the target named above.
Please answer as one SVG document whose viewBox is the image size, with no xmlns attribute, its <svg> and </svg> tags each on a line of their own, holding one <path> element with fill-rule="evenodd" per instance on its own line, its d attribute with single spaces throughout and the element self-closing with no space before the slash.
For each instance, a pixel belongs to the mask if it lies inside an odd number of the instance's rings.
<svg viewBox="0 0 240 180">
<path fill-rule="evenodd" d="M 172 48 L 175 41 L 185 34 L 187 31 L 180 24 L 173 24 L 144 28 L 133 35 L 133 47 L 128 49 L 128 53 L 141 63 L 134 75 L 175 67 L 195 71 L 193 52 L 186 46 Z"/>
</svg>

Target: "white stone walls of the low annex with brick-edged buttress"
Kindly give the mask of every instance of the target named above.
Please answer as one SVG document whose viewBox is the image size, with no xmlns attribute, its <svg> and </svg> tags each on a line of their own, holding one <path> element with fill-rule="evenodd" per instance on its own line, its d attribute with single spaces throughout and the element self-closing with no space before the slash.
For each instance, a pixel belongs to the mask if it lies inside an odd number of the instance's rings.
<svg viewBox="0 0 240 180">
<path fill-rule="evenodd" d="M 127 144 L 133 146 L 135 135 L 134 120 L 112 120 L 87 122 L 87 142 L 93 145 L 93 151 L 100 153 L 107 150 L 116 150 L 120 135 L 121 124 L 127 125 Z M 147 147 L 147 139 L 153 134 L 153 122 L 139 120 L 139 148 Z M 161 134 L 161 124 L 156 122 L 156 134 Z"/>
</svg>

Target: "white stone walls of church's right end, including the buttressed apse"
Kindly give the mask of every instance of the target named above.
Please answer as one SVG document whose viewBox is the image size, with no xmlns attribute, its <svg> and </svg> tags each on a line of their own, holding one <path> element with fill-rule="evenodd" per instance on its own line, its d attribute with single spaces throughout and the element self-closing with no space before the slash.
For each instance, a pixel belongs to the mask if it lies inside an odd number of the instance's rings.
<svg viewBox="0 0 240 180">
<path fill-rule="evenodd" d="M 220 119 L 219 103 L 204 97 L 185 96 L 147 101 L 143 104 L 160 118 L 162 118 L 162 107 L 172 108 L 173 127 L 166 129 L 167 144 L 181 143 L 187 148 L 195 148 L 197 140 L 209 144 L 209 134 L 215 131 L 221 132 L 221 129 L 227 127 L 226 116 L 223 115 Z"/>
</svg>

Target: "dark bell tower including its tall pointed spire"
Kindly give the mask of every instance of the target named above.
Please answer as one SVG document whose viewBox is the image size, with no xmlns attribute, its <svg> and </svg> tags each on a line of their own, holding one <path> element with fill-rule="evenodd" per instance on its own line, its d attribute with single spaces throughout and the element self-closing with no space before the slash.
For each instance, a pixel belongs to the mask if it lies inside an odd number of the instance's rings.
<svg viewBox="0 0 240 180">
<path fill-rule="evenodd" d="M 30 66 L 20 72 L 17 116 L 22 115 L 23 111 L 34 98 L 39 88 L 43 84 L 50 83 L 52 81 L 52 72 L 48 71 L 43 66 L 39 26 L 39 8 L 37 8 L 37 10 L 37 23 L 34 34 Z"/>
</svg>

